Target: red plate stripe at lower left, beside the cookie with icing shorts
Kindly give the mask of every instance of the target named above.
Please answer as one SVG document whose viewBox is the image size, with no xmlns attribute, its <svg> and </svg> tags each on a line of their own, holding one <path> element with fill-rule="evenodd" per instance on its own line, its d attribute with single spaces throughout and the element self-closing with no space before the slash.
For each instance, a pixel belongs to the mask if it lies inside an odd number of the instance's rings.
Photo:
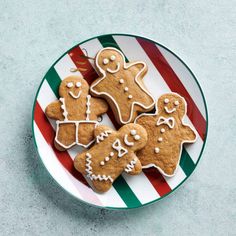
<svg viewBox="0 0 236 236">
<path fill-rule="evenodd" d="M 46 115 L 44 114 L 42 108 L 40 107 L 39 103 L 35 103 L 34 108 L 34 120 L 42 133 L 44 139 L 50 145 L 53 149 L 53 152 L 55 153 L 57 159 L 60 161 L 60 163 L 64 166 L 64 168 L 69 171 L 70 174 L 72 174 L 76 179 L 78 179 L 81 183 L 85 184 L 86 186 L 89 186 L 87 184 L 87 181 L 81 175 L 78 171 L 76 171 L 73 160 L 71 159 L 68 152 L 60 152 L 54 147 L 54 137 L 55 132 L 49 123 Z"/>
</svg>

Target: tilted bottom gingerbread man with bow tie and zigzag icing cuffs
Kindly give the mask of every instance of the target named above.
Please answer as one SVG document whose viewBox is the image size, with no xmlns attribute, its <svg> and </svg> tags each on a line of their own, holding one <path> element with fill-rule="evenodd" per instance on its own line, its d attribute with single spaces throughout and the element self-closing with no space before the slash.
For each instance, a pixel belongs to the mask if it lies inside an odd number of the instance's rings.
<svg viewBox="0 0 236 236">
<path fill-rule="evenodd" d="M 107 126 L 97 126 L 94 146 L 76 156 L 75 168 L 87 176 L 94 189 L 108 191 L 123 172 L 139 174 L 141 163 L 135 152 L 147 142 L 147 132 L 138 124 L 127 124 L 118 131 Z"/>
</svg>

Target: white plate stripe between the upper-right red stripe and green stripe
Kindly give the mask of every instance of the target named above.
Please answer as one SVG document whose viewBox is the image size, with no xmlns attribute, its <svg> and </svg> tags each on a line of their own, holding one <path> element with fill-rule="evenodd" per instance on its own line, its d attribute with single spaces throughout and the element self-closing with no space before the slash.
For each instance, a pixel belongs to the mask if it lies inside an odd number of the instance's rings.
<svg viewBox="0 0 236 236">
<path fill-rule="evenodd" d="M 147 63 L 148 73 L 144 77 L 144 82 L 147 89 L 149 89 L 153 95 L 158 98 L 163 93 L 171 92 L 165 80 L 162 78 L 156 67 L 153 65 L 152 61 L 149 59 L 145 51 L 142 49 L 142 47 L 134 37 L 114 36 L 114 39 L 130 61 L 142 60 Z M 185 120 L 187 124 L 194 127 L 188 116 L 185 117 Z M 197 133 L 196 142 L 193 145 L 185 146 L 186 151 L 188 152 L 194 163 L 196 163 L 199 158 L 202 145 L 203 141 Z"/>
</svg>

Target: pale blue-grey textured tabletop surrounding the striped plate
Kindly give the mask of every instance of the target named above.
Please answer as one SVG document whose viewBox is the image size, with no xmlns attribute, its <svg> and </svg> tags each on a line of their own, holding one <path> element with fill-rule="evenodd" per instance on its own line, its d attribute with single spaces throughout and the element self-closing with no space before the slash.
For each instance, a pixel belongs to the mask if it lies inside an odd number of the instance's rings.
<svg viewBox="0 0 236 236">
<path fill-rule="evenodd" d="M 236 1 L 0 0 L 0 234 L 233 235 L 236 232 Z M 36 154 L 39 83 L 71 46 L 104 33 L 150 37 L 193 70 L 209 109 L 203 158 L 175 194 L 131 211 L 70 197 Z"/>
</svg>

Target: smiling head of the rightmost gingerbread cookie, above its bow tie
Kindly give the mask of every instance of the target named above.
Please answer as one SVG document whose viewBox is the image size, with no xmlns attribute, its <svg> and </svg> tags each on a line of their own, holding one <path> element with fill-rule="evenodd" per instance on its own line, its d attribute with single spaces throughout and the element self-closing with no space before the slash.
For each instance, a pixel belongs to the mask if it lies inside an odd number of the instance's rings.
<svg viewBox="0 0 236 236">
<path fill-rule="evenodd" d="M 179 115 L 183 117 L 186 113 L 186 102 L 177 93 L 163 94 L 157 102 L 158 113 L 165 116 Z"/>
</svg>

